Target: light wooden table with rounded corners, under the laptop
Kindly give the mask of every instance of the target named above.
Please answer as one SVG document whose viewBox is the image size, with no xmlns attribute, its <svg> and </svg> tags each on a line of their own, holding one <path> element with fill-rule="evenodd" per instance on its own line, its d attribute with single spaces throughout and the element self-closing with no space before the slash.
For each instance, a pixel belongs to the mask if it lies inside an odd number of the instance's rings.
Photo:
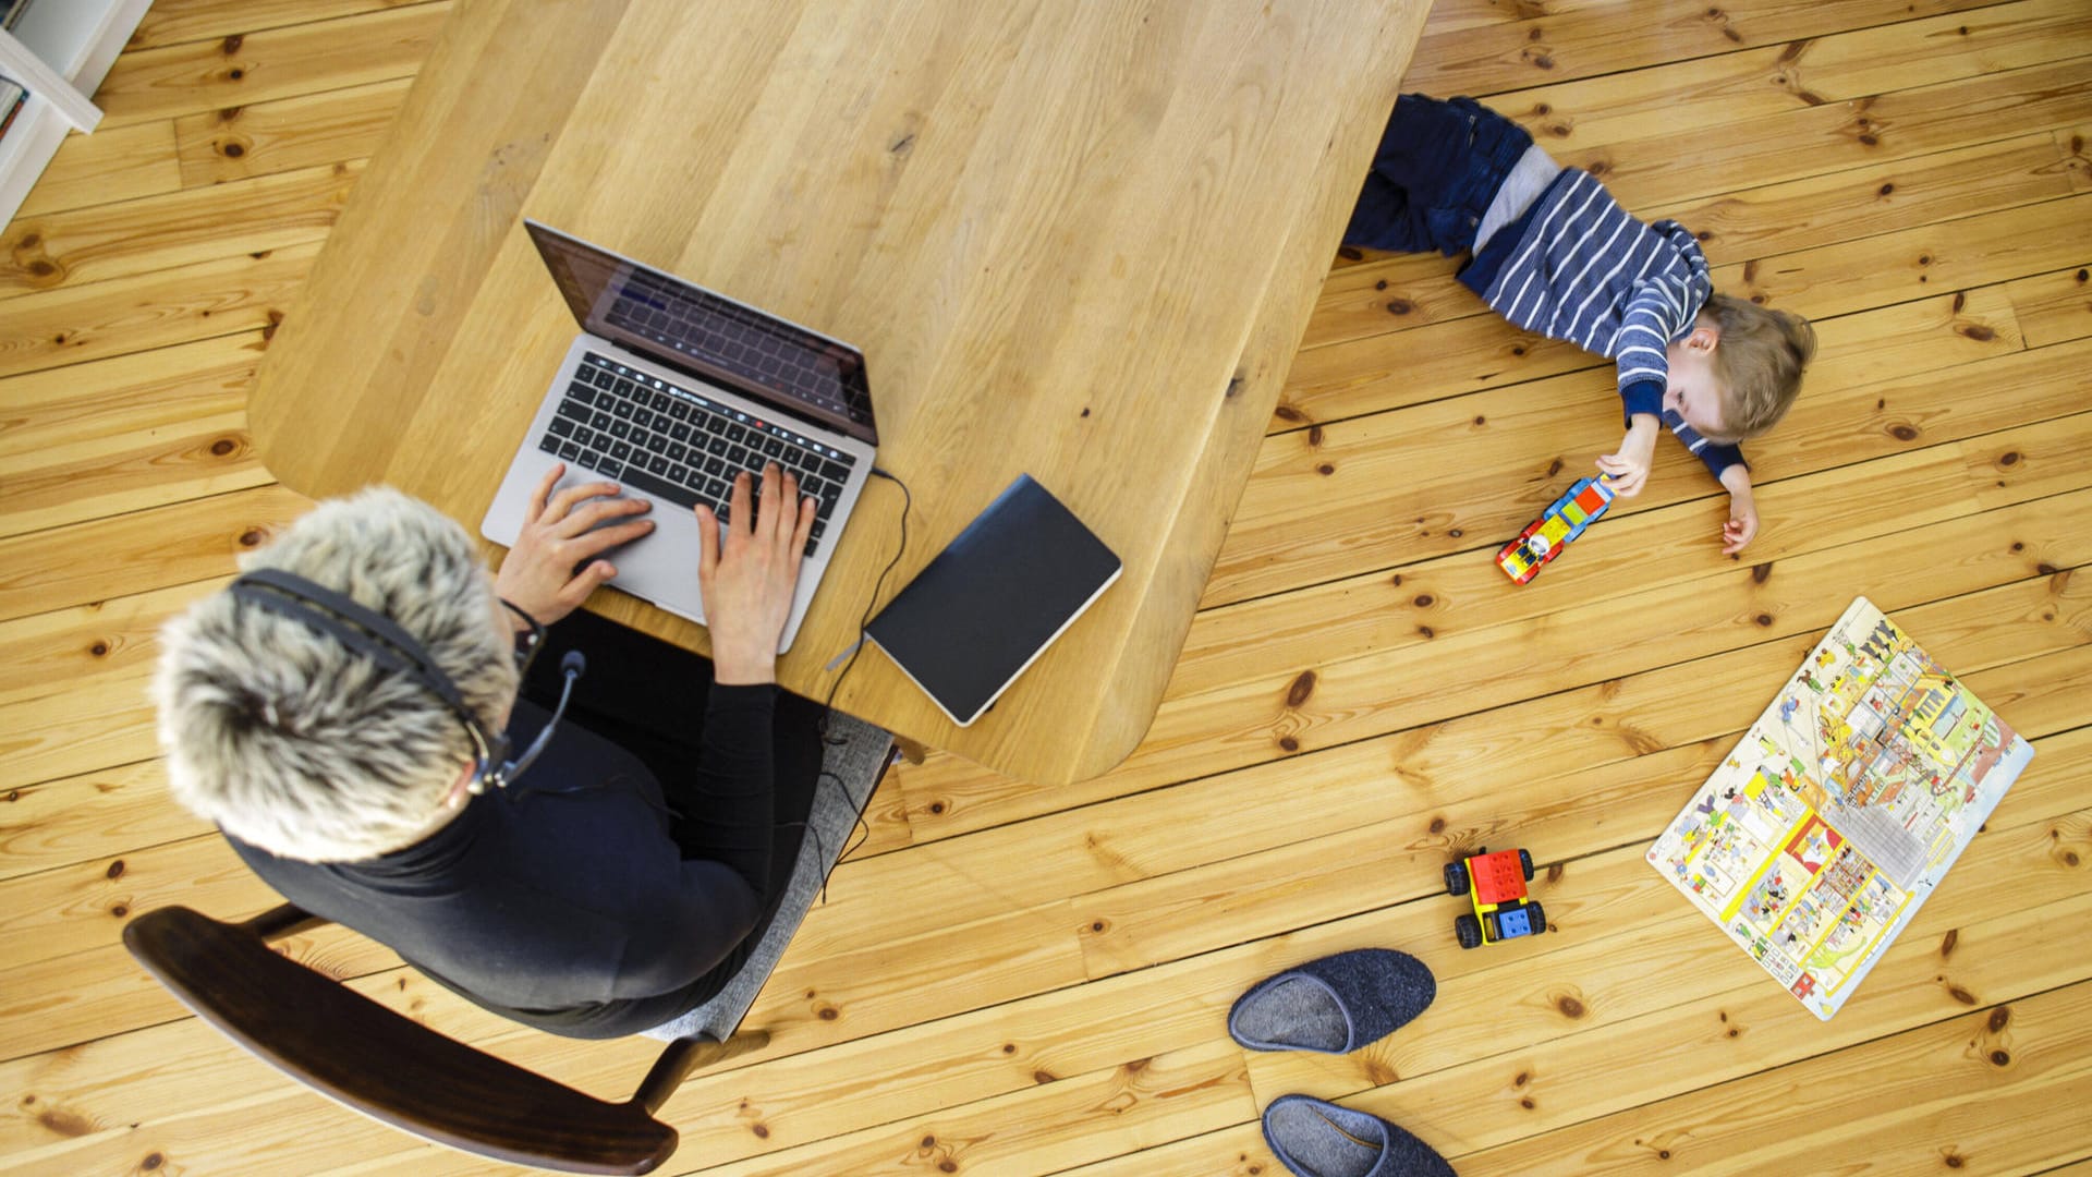
<svg viewBox="0 0 2092 1177">
<path fill-rule="evenodd" d="M 255 444 L 299 492 L 389 482 L 477 528 L 575 333 L 523 216 L 722 289 L 864 350 L 914 492 L 883 597 L 1023 471 L 1125 559 L 973 727 L 877 651 L 837 706 L 1100 775 L 1155 716 L 1425 6 L 458 0 L 270 343 Z M 784 687 L 828 695 L 900 517 L 874 480 Z"/>
</svg>

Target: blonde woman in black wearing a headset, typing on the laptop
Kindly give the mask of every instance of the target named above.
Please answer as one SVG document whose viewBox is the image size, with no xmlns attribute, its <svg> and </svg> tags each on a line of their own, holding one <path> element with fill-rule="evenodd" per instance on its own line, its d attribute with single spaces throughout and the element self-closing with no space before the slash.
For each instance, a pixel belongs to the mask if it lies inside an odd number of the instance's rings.
<svg viewBox="0 0 2092 1177">
<path fill-rule="evenodd" d="M 487 1009 L 617 1037 L 718 993 L 791 880 L 820 741 L 776 645 L 814 503 L 772 465 L 724 534 L 697 507 L 707 664 L 569 618 L 653 526 L 561 473 L 494 578 L 406 494 L 322 503 L 167 624 L 155 695 L 176 798 L 285 898 Z M 548 725 L 571 649 L 588 679 Z"/>
</svg>

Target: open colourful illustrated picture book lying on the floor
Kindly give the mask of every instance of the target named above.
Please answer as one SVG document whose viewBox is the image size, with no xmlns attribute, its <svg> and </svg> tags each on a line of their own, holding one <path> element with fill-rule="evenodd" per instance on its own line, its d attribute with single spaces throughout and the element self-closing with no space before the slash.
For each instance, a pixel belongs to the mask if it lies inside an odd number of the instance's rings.
<svg viewBox="0 0 2092 1177">
<path fill-rule="evenodd" d="M 2031 758 L 1860 597 L 1648 863 L 1828 1020 Z"/>
</svg>

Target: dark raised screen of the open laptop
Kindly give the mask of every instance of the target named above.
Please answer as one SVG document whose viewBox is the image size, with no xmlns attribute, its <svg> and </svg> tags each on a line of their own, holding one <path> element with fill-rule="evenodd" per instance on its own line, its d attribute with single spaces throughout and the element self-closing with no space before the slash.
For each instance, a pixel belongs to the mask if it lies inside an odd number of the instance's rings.
<svg viewBox="0 0 2092 1177">
<path fill-rule="evenodd" d="M 584 331 L 879 444 L 856 348 L 556 228 L 523 224 Z"/>
</svg>

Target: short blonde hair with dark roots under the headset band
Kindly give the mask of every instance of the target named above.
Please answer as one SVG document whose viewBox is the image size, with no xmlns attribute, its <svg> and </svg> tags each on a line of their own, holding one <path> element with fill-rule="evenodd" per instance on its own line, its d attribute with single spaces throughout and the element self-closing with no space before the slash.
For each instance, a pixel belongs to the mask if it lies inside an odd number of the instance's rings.
<svg viewBox="0 0 2092 1177">
<path fill-rule="evenodd" d="M 517 668 L 464 528 L 391 488 L 320 503 L 241 559 L 345 593 L 418 641 L 496 729 Z M 473 758 L 418 681 L 293 618 L 213 593 L 161 630 L 167 785 L 226 834 L 285 859 L 374 859 L 420 838 Z"/>
</svg>

